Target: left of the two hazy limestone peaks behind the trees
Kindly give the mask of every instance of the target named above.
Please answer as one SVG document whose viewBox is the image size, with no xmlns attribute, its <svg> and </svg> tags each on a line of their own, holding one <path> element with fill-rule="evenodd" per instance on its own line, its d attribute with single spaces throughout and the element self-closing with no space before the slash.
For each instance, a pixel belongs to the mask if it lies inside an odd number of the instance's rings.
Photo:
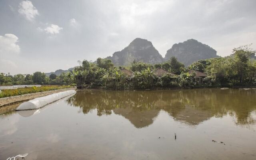
<svg viewBox="0 0 256 160">
<path fill-rule="evenodd" d="M 163 62 L 161 54 L 153 44 L 142 38 L 134 39 L 126 48 L 114 52 L 113 56 L 107 58 L 112 60 L 116 66 L 130 65 L 133 60 L 151 64 Z"/>
</svg>

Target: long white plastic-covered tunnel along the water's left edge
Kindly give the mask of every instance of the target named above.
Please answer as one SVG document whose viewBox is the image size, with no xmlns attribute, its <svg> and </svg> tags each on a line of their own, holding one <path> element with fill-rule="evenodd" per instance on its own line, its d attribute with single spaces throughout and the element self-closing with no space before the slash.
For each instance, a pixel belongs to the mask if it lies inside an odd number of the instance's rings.
<svg viewBox="0 0 256 160">
<path fill-rule="evenodd" d="M 23 102 L 22 104 L 20 104 L 20 106 L 18 106 L 18 108 L 16 108 L 16 110 L 35 110 L 43 106 L 46 106 L 47 104 L 50 104 L 56 100 L 60 100 L 61 98 L 70 96 L 75 93 L 76 93 L 75 90 L 67 90 L 64 92 L 54 93 L 48 96 L 35 98 L 28 102 Z"/>
</svg>

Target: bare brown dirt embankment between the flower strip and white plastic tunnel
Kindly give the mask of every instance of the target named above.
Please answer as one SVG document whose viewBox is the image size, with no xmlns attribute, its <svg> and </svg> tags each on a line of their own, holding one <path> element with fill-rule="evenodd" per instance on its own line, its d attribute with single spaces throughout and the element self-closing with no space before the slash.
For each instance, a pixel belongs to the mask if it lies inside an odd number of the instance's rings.
<svg viewBox="0 0 256 160">
<path fill-rule="evenodd" d="M 18 104 L 18 103 L 22 103 L 22 102 L 26 102 L 28 100 L 42 97 L 42 96 L 47 96 L 49 94 L 63 92 L 66 90 L 76 90 L 76 88 L 64 88 L 64 89 L 60 89 L 60 90 L 50 90 L 50 91 L 46 91 L 46 92 L 37 92 L 37 93 L 31 93 L 31 94 L 23 94 L 23 95 L 19 95 L 19 96 L 0 98 L 0 108 Z"/>
</svg>

